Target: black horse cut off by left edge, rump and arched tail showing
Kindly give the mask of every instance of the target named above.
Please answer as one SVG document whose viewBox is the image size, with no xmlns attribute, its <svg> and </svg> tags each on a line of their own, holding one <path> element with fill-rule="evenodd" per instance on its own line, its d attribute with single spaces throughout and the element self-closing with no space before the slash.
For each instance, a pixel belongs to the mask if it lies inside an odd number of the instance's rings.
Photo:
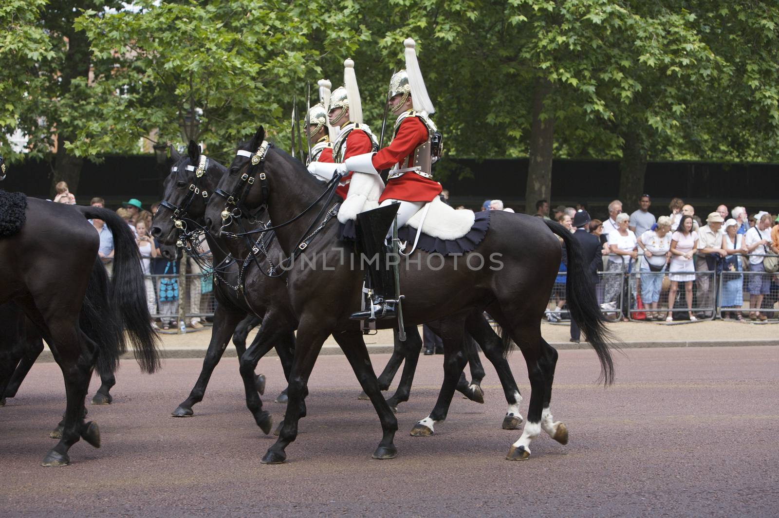
<svg viewBox="0 0 779 518">
<path fill-rule="evenodd" d="M 23 309 L 62 368 L 67 394 L 62 439 L 43 465 L 64 466 L 70 463 L 69 448 L 79 438 L 100 446 L 97 424 L 83 419 L 96 361 L 99 372 L 113 372 L 129 339 L 141 368 L 153 372 L 159 365 L 156 335 L 146 307 L 139 250 L 125 220 L 110 210 L 33 198 L 26 199 L 24 214 L 21 230 L 0 238 L 0 304 L 14 301 Z M 102 266 L 93 268 L 99 238 L 85 218 L 104 220 L 114 234 L 111 284 Z M 97 282 L 95 271 L 102 272 Z M 90 298 L 85 299 L 88 287 L 100 294 L 95 300 L 103 307 L 93 308 Z M 88 329 L 83 327 L 83 313 L 93 315 L 87 319 L 92 322 Z M 16 363 L 7 361 L 8 351 L 0 354 L 6 357 L 0 361 L 0 392 L 4 392 Z"/>
</svg>

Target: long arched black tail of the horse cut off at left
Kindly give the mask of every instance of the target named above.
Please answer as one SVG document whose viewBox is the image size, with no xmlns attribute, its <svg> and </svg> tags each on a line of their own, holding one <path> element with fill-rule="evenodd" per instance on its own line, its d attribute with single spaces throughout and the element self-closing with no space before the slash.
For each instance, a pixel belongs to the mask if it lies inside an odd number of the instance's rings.
<svg viewBox="0 0 779 518">
<path fill-rule="evenodd" d="M 114 234 L 114 275 L 111 278 L 111 300 L 117 305 L 119 329 L 127 330 L 133 353 L 141 369 L 154 372 L 160 367 L 157 350 L 159 338 L 151 326 L 151 315 L 146 306 L 146 287 L 138 245 L 128 224 L 121 217 L 100 207 L 79 206 L 87 218 L 104 220 Z M 126 347 L 125 333 L 118 333 L 122 347 Z"/>
</svg>

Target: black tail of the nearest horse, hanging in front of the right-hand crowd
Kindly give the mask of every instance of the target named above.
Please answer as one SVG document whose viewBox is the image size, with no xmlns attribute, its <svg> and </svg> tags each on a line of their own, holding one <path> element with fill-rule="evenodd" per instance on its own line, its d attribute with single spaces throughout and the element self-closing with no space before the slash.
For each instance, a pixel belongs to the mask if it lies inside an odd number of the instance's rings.
<svg viewBox="0 0 779 518">
<path fill-rule="evenodd" d="M 582 250 L 573 234 L 561 224 L 544 220 L 547 226 L 566 244 L 568 253 L 568 274 L 566 279 L 566 297 L 569 301 L 569 312 L 576 325 L 583 331 L 584 337 L 595 350 L 597 359 L 601 361 L 601 375 L 604 382 L 610 385 L 614 381 L 614 361 L 611 347 L 616 347 L 616 339 L 606 327 L 606 319 L 597 305 L 597 297 L 592 283 L 587 280 L 590 275 L 586 270 L 587 262 L 582 256 Z"/>
</svg>

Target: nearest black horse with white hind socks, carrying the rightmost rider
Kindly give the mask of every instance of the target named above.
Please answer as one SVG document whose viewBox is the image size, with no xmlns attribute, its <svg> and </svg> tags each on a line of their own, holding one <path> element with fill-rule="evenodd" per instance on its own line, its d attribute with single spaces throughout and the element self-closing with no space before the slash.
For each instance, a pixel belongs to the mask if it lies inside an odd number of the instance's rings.
<svg viewBox="0 0 779 518">
<path fill-rule="evenodd" d="M 333 203 L 337 178 L 323 190 L 322 181 L 313 178 L 298 160 L 270 146 L 264 138 L 265 132 L 261 128 L 253 139 L 240 146 L 230 174 L 220 181 L 217 191 L 225 193 L 227 203 L 217 206 L 219 204 L 212 201 L 206 210 L 206 224 L 218 232 L 224 228 L 222 207 L 228 212 L 233 206 L 241 211 L 252 211 L 267 204 L 277 229 L 277 239 L 290 258 L 287 264 L 292 263 L 287 273 L 287 289 L 299 320 L 297 348 L 284 426 L 277 442 L 263 456 L 263 463 L 285 460 L 284 449 L 298 433 L 308 376 L 330 334 L 344 350 L 379 414 L 383 434 L 373 456 L 392 458 L 397 455 L 393 445 L 397 419 L 381 396 L 359 324 L 349 319 L 351 312 L 360 305 L 363 272 L 361 268 L 351 266 L 361 266 L 361 258 L 354 254 L 351 242 L 339 239 L 340 229 L 333 221 L 337 210 Z M 561 257 L 555 234 L 562 237 L 568 248 L 572 317 L 597 352 L 606 382 L 613 375 L 609 336 L 598 312 L 594 290 L 584 281 L 579 247 L 564 227 L 499 211 L 491 217 L 490 225 L 479 245 L 460 257 L 460 265 L 464 264 L 464 259 L 469 265 L 467 268 L 457 268 L 452 258 L 439 255 L 431 259 L 431 255 L 417 250 L 411 257 L 416 268 L 401 269 L 405 326 L 410 328 L 441 319 L 440 333 L 445 351 L 445 375 L 438 401 L 432 413 L 419 421 L 414 431 L 421 432 L 418 435 L 429 435 L 433 425 L 446 418 L 466 361 L 465 321 L 474 312 L 486 309 L 506 333 L 506 351 L 513 340 L 527 362 L 531 385 L 527 423 L 507 456 L 512 460 L 526 459 L 530 456 L 530 442 L 541 429 L 559 442 L 568 440 L 566 426 L 553 421 L 549 411 L 557 351 L 541 337 L 540 325 Z M 236 229 L 232 226 L 230 230 Z M 342 259 L 344 256 L 345 260 Z M 322 267 L 306 266 L 315 263 Z M 472 263 L 474 266 L 470 266 Z M 432 265 L 440 268 L 436 270 Z M 382 326 L 393 324 L 379 322 Z"/>
</svg>

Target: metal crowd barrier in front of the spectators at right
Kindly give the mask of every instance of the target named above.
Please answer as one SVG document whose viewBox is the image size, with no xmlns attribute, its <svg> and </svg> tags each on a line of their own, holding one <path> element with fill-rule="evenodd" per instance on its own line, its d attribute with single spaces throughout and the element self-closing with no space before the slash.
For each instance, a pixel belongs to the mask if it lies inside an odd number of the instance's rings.
<svg viewBox="0 0 779 518">
<path fill-rule="evenodd" d="M 736 312 L 741 312 L 742 319 L 747 320 L 750 312 L 756 311 L 766 315 L 768 320 L 779 318 L 779 308 L 777 308 L 779 273 L 746 270 L 749 268 L 749 257 L 752 256 L 756 255 L 738 255 L 738 268 L 741 270 L 725 269 L 719 273 L 703 270 L 686 273 L 694 277 L 694 280 L 678 281 L 674 308 L 670 313 L 674 322 L 689 321 L 689 312 L 692 312 L 698 321 L 735 318 L 729 314 Z M 761 257 L 766 256 L 770 255 L 761 255 Z M 671 291 L 671 276 L 668 270 L 641 271 L 639 263 L 640 256 L 639 259 L 632 259 L 629 265 L 623 263 L 621 270 L 598 272 L 600 283 L 596 286 L 597 301 L 601 313 L 607 319 L 622 319 L 625 312 L 631 321 L 636 322 L 664 321 L 668 317 L 668 297 Z M 671 275 L 676 274 L 671 273 Z M 545 310 L 545 318 L 548 322 L 567 323 L 570 320 L 566 304 L 566 276 L 567 272 L 561 271 L 555 280 Z M 692 307 L 687 306 L 686 282 L 692 284 Z M 750 307 L 750 288 L 755 292 L 767 291 L 763 294 L 760 308 Z M 647 296 L 654 298 L 655 294 L 659 295 L 657 309 L 650 307 L 651 300 L 644 300 Z M 756 319 L 758 318 L 756 316 Z"/>
</svg>

